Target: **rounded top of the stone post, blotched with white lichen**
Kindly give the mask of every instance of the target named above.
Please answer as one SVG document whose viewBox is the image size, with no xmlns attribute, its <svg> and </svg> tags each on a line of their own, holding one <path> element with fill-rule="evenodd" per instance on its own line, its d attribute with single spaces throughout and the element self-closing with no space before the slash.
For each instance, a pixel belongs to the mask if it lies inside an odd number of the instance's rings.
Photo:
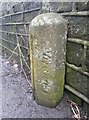
<svg viewBox="0 0 89 120">
<path fill-rule="evenodd" d="M 44 13 L 36 16 L 30 23 L 31 26 L 44 26 L 52 24 L 67 24 L 65 20 L 58 13 Z"/>
</svg>

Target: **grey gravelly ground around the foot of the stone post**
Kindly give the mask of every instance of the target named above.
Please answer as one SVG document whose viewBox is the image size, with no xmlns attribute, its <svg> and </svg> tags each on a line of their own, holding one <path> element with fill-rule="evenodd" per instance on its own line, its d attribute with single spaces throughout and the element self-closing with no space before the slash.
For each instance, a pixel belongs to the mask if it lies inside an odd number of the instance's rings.
<svg viewBox="0 0 89 120">
<path fill-rule="evenodd" d="M 33 100 L 32 90 L 28 82 L 24 77 L 20 77 L 16 66 L 1 56 L 0 61 L 2 62 L 2 65 L 0 64 L 2 118 L 72 118 L 73 113 L 67 94 L 64 95 L 56 108 L 37 105 Z"/>
</svg>

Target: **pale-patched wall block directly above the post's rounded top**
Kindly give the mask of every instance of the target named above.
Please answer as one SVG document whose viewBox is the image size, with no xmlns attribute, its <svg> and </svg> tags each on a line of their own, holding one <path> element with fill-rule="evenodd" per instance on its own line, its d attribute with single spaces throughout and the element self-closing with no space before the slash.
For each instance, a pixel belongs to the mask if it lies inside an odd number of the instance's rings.
<svg viewBox="0 0 89 120">
<path fill-rule="evenodd" d="M 72 2 L 43 2 L 44 12 L 69 12 L 72 10 Z"/>
</svg>

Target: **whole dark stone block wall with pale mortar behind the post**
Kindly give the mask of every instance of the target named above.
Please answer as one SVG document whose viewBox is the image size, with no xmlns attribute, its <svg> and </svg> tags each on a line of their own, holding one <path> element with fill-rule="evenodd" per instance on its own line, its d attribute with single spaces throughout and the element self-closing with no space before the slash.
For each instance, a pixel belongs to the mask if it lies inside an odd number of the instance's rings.
<svg viewBox="0 0 89 120">
<path fill-rule="evenodd" d="M 68 91 L 73 88 L 83 94 L 84 99 L 80 99 L 81 96 L 76 97 L 76 92 L 73 94 L 68 92 L 74 100 L 86 107 L 86 103 L 89 103 L 89 2 L 4 3 L 2 8 L 3 17 L 0 19 L 3 24 L 1 38 L 3 54 L 9 56 L 12 54 L 17 45 L 16 34 L 18 34 L 26 61 L 29 61 L 29 23 L 35 16 L 41 13 L 56 12 L 69 21 L 65 88 Z M 18 49 L 16 49 L 13 57 L 19 57 L 18 53 Z"/>
</svg>

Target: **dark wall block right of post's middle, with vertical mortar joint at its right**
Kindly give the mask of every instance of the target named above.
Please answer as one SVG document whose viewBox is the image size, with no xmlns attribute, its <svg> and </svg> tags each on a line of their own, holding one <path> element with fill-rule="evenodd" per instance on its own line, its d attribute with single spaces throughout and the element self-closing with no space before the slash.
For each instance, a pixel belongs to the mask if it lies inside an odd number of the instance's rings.
<svg viewBox="0 0 89 120">
<path fill-rule="evenodd" d="M 83 45 L 67 42 L 67 62 L 82 67 L 83 63 Z"/>
</svg>

